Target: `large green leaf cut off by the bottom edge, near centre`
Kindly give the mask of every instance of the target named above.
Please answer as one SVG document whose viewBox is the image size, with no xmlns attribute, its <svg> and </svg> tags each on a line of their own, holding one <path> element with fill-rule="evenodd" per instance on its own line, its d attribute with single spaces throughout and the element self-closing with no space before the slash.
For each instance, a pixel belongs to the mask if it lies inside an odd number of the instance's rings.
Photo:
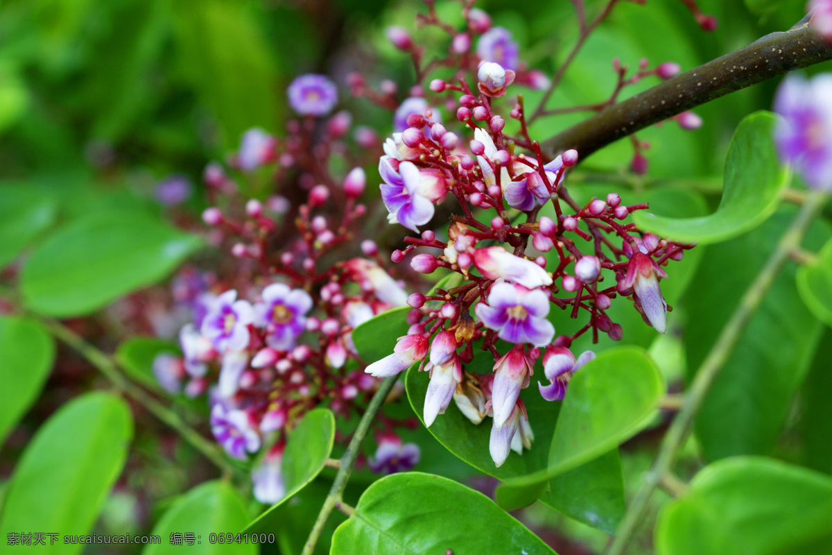
<svg viewBox="0 0 832 555">
<path fill-rule="evenodd" d="M 423 473 L 381 478 L 335 530 L 332 555 L 554 553 L 482 493 Z"/>
</svg>

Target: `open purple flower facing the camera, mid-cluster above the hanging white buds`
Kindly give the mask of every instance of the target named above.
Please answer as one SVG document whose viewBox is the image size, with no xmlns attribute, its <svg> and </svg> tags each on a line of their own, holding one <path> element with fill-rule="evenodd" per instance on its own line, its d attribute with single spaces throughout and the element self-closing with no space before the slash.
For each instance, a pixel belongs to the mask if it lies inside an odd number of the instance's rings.
<svg viewBox="0 0 832 555">
<path fill-rule="evenodd" d="M 549 299 L 542 290 L 497 283 L 488 293 L 488 305 L 479 303 L 474 312 L 485 327 L 509 343 L 543 347 L 555 336 L 555 327 L 546 319 Z"/>
</svg>

